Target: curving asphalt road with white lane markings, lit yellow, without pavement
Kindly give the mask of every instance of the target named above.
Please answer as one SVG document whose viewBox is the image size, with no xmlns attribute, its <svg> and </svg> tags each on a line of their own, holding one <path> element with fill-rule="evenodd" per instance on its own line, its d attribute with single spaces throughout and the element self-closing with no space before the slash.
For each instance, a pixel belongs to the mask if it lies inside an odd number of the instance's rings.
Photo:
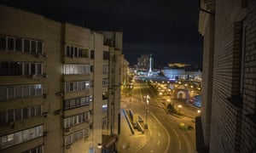
<svg viewBox="0 0 256 153">
<path fill-rule="evenodd" d="M 138 152 L 166 152 L 166 153 L 194 153 L 195 150 L 195 129 L 184 130 L 179 125 L 184 123 L 195 127 L 191 122 L 193 116 L 196 114 L 195 108 L 185 106 L 183 113 L 188 116 L 172 116 L 164 109 L 164 107 L 157 100 L 157 96 L 150 91 L 145 82 L 135 82 L 130 98 L 130 108 L 137 114 L 143 116 L 144 122 L 146 122 L 146 99 L 145 95 L 149 95 L 148 100 L 148 132 L 151 137 L 148 143 Z"/>
</svg>

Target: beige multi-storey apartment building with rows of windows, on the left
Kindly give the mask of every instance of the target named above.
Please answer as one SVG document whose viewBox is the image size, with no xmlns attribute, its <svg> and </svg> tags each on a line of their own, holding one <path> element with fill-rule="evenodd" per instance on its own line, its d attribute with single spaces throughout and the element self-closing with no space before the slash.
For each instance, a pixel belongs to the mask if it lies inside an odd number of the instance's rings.
<svg viewBox="0 0 256 153">
<path fill-rule="evenodd" d="M 0 10 L 0 152 L 115 150 L 122 33 Z"/>
</svg>

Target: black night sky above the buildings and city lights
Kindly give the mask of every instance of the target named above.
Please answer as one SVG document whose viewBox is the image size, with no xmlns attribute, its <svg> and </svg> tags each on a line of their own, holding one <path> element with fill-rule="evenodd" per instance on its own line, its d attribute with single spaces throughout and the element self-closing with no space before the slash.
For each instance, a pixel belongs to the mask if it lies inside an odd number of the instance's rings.
<svg viewBox="0 0 256 153">
<path fill-rule="evenodd" d="M 125 59 L 141 54 L 154 61 L 201 64 L 198 0 L 0 0 L 92 30 L 123 31 Z"/>
</svg>

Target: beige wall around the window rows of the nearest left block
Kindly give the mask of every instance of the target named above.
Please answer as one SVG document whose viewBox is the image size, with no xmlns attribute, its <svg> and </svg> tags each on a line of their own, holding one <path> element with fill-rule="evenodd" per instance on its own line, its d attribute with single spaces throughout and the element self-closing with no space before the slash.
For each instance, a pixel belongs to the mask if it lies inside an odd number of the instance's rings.
<svg viewBox="0 0 256 153">
<path fill-rule="evenodd" d="M 32 105 L 42 106 L 42 116 L 15 121 L 14 127 L 1 125 L 1 136 L 38 125 L 43 125 L 43 130 L 45 132 L 44 137 L 13 145 L 5 150 L 1 150 L 1 152 L 24 151 L 32 149 L 38 145 L 44 146 L 45 152 L 61 152 L 61 116 L 54 114 L 56 110 L 61 109 L 61 99 L 59 96 L 55 95 L 55 93 L 61 90 L 61 24 L 45 19 L 43 16 L 27 13 L 14 8 L 0 6 L 0 10 L 0 19 L 2 23 L 0 27 L 1 35 L 43 41 L 44 54 L 47 55 L 47 58 L 44 58 L 43 54 L 0 51 L 0 61 L 42 63 L 43 73 L 48 76 L 1 76 L 0 85 L 2 87 L 40 83 L 43 85 L 43 94 L 46 94 L 46 98 L 41 95 L 33 98 L 6 100 L 0 103 L 0 111 L 2 112 L 30 107 Z M 55 66 L 51 67 L 50 65 Z M 47 116 L 44 117 L 43 114 L 47 114 Z M 52 124 L 52 122 L 55 122 L 55 124 Z"/>
</svg>

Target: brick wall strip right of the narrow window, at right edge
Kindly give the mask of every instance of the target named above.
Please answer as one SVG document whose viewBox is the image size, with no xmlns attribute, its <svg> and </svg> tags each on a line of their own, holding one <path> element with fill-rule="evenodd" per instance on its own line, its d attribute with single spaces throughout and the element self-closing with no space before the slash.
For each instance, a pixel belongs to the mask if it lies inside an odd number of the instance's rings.
<svg viewBox="0 0 256 153">
<path fill-rule="evenodd" d="M 241 152 L 256 152 L 256 1 L 247 3 Z"/>
</svg>

